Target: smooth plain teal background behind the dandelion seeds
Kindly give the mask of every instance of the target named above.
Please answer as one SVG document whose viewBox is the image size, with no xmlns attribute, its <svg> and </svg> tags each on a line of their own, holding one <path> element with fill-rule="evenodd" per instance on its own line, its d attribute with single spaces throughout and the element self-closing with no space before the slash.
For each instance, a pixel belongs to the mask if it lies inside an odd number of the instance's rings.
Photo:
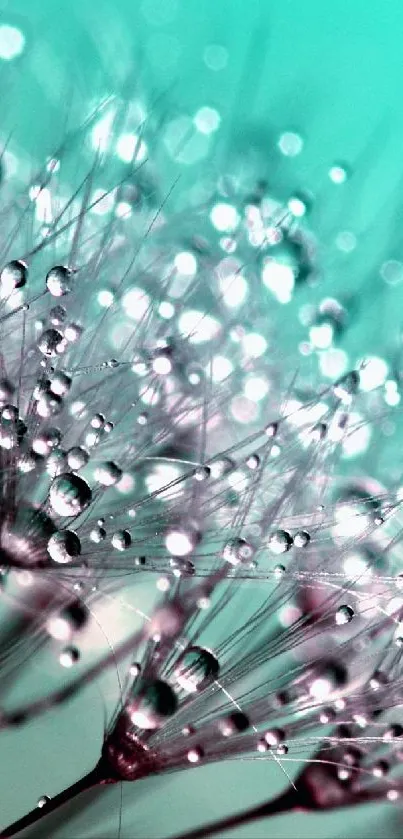
<svg viewBox="0 0 403 839">
<path fill-rule="evenodd" d="M 3 133 L 13 129 L 13 150 L 39 161 L 60 138 L 63 103 L 72 89 L 71 118 L 82 119 L 90 103 L 118 92 L 133 72 L 145 98 L 162 94 L 156 110 L 193 116 L 203 105 L 216 108 L 222 125 L 202 161 L 179 166 L 164 150 L 157 152 L 163 189 L 181 173 L 174 206 L 186 206 L 201 174 L 225 170 L 252 143 L 252 170 L 267 168 L 281 195 L 302 188 L 313 196 L 311 224 L 325 266 L 320 294 L 359 290 L 349 352 L 388 354 L 400 330 L 403 297 L 401 287 L 386 288 L 379 278 L 381 262 L 403 252 L 400 0 L 3 0 L 0 14 L 27 37 L 24 58 L 0 75 Z M 228 51 L 222 70 L 208 69 L 203 60 L 211 44 Z M 304 138 L 298 158 L 281 159 L 276 151 L 285 130 Z M 352 173 L 342 187 L 327 177 L 336 161 L 345 161 Z M 342 230 L 357 236 L 349 256 L 334 246 Z M 36 677 L 42 678 L 39 668 Z M 102 690 L 88 690 L 34 728 L 2 735 L 4 823 L 91 768 L 105 703 L 112 707 L 116 695 L 112 674 Z M 117 836 L 121 812 L 122 839 L 169 836 L 271 796 L 283 781 L 277 766 L 261 761 L 192 769 L 126 785 L 122 807 L 120 790 L 108 790 L 84 810 L 72 807 L 71 820 L 64 815 L 57 827 L 52 820 L 47 835 Z M 237 835 L 398 837 L 398 819 L 391 805 L 375 806 L 284 817 Z"/>
</svg>

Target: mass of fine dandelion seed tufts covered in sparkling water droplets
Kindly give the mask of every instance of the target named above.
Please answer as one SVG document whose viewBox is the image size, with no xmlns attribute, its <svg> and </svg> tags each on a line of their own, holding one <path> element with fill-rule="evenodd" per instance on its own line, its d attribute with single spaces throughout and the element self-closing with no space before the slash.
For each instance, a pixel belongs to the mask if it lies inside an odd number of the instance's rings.
<svg viewBox="0 0 403 839">
<path fill-rule="evenodd" d="M 403 495 L 345 461 L 385 411 L 379 365 L 374 393 L 364 362 L 333 381 L 294 372 L 301 347 L 320 361 L 348 321 L 324 298 L 300 313 L 309 346 L 289 346 L 280 309 L 320 279 L 309 202 L 220 179 L 207 212 L 178 217 L 135 149 L 100 190 L 102 151 L 64 200 L 54 154 L 4 234 L 0 728 L 130 654 L 102 782 L 235 757 L 284 770 L 309 747 L 307 809 L 395 800 Z M 140 572 L 156 603 L 139 594 L 127 637 L 94 663 L 97 610 L 119 612 Z M 58 686 L 9 703 L 43 646 Z"/>
</svg>

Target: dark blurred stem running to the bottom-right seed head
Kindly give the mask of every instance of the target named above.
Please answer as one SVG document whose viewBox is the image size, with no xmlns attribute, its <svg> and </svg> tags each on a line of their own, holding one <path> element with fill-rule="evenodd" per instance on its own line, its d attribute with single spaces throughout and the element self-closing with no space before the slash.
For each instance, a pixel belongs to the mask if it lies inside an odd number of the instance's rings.
<svg viewBox="0 0 403 839">
<path fill-rule="evenodd" d="M 175 839 L 204 839 L 205 836 L 214 836 L 216 833 L 230 830 L 232 827 L 240 827 L 242 824 L 250 824 L 269 816 L 279 816 L 281 813 L 291 813 L 300 807 L 299 795 L 295 789 L 290 787 L 282 795 L 273 798 L 272 801 L 259 804 L 257 807 L 251 807 L 236 816 L 228 816 L 228 818 L 210 822 L 210 824 L 198 827 L 196 830 L 190 830 L 188 833 L 181 833 L 180 836 L 175 836 Z"/>
</svg>

